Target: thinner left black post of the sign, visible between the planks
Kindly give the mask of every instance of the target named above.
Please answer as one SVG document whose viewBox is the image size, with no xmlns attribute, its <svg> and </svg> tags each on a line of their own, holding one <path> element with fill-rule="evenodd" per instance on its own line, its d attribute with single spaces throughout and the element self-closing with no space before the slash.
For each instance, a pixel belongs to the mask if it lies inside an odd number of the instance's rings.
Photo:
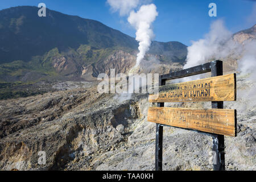
<svg viewBox="0 0 256 182">
<path fill-rule="evenodd" d="M 166 81 L 159 76 L 159 86 L 165 85 Z M 158 107 L 164 107 L 164 102 L 158 102 Z M 163 126 L 156 123 L 155 133 L 155 171 L 162 171 L 163 161 Z"/>
</svg>

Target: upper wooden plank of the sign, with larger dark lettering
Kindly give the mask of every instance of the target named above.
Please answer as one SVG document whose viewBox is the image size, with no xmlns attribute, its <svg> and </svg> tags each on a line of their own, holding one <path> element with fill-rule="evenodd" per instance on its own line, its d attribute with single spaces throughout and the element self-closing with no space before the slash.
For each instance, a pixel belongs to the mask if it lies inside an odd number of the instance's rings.
<svg viewBox="0 0 256 182">
<path fill-rule="evenodd" d="M 159 86 L 149 102 L 236 101 L 236 73 Z"/>
</svg>

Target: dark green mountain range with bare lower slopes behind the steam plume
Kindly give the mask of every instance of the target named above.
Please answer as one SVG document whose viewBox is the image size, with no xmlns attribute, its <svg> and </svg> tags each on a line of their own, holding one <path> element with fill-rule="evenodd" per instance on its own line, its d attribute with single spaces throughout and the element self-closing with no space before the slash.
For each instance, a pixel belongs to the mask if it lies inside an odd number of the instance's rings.
<svg viewBox="0 0 256 182">
<path fill-rule="evenodd" d="M 91 79 L 109 68 L 127 72 L 135 64 L 135 38 L 96 20 L 49 9 L 39 17 L 38 10 L 18 6 L 0 11 L 0 81 Z M 154 56 L 161 63 L 183 64 L 187 46 L 152 42 L 146 57 Z"/>
</svg>

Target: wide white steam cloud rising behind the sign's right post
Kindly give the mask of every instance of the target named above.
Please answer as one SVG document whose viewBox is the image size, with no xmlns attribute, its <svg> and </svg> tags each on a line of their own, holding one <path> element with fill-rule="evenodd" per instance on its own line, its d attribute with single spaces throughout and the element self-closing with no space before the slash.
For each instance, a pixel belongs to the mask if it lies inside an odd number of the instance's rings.
<svg viewBox="0 0 256 182">
<path fill-rule="evenodd" d="M 240 75 L 251 75 L 256 78 L 256 40 L 234 40 L 233 34 L 224 26 L 222 20 L 216 20 L 210 26 L 210 32 L 204 39 L 193 42 L 188 47 L 187 63 L 185 68 L 207 63 L 209 60 L 224 60 L 229 57 L 238 59 Z"/>
</svg>

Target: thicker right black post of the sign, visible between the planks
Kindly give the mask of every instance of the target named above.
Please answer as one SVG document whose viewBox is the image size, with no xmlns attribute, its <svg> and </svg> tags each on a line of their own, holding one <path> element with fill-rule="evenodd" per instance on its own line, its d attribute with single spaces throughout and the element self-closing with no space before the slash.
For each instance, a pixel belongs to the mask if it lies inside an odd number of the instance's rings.
<svg viewBox="0 0 256 182">
<path fill-rule="evenodd" d="M 210 64 L 212 76 L 223 75 L 222 61 L 212 61 Z M 223 109 L 223 101 L 212 102 L 212 109 Z M 224 135 L 212 134 L 214 151 L 213 170 L 225 171 Z"/>
</svg>

